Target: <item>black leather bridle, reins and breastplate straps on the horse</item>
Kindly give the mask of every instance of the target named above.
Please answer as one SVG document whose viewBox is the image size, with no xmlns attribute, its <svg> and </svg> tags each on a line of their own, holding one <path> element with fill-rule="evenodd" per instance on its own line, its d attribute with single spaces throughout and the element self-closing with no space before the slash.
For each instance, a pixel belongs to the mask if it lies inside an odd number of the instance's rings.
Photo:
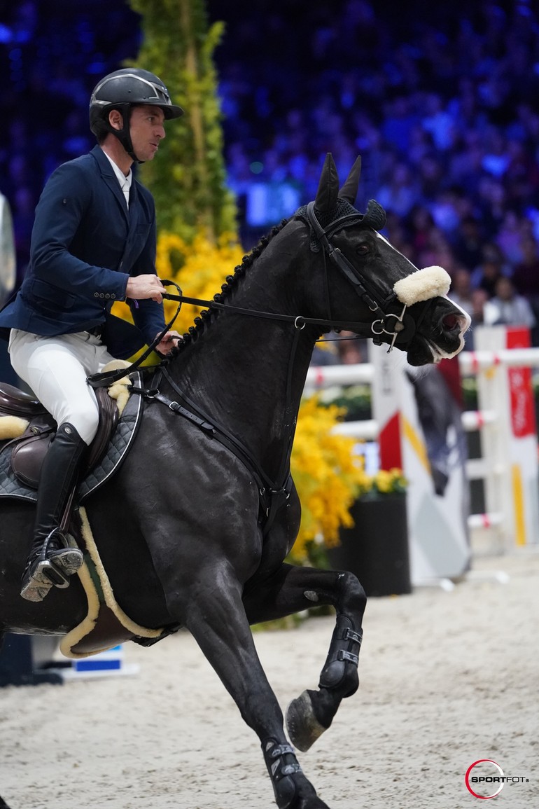
<svg viewBox="0 0 539 809">
<path fill-rule="evenodd" d="M 164 358 L 158 366 L 154 366 L 155 373 L 154 378 L 152 379 L 151 388 L 138 388 L 134 385 L 130 388 L 133 393 L 143 396 L 143 398 L 149 402 L 155 400 L 161 404 L 165 404 L 166 407 L 171 409 L 174 413 L 178 413 L 188 421 L 191 421 L 192 424 L 199 427 L 204 434 L 208 435 L 208 437 L 215 438 L 242 461 L 242 463 L 253 475 L 259 489 L 260 519 L 263 523 L 263 536 L 265 536 L 269 531 L 277 512 L 288 500 L 290 493 L 293 490 L 293 481 L 292 477 L 290 476 L 290 457 L 292 455 L 293 438 L 296 431 L 297 412 L 292 403 L 292 383 L 294 361 L 296 358 L 300 332 L 307 325 L 322 326 L 322 328 L 334 328 L 336 330 L 346 329 L 347 331 L 355 332 L 361 337 L 372 337 L 373 341 L 377 343 L 381 343 L 381 341 L 384 339 L 383 335 L 386 335 L 390 338 L 389 351 L 393 349 L 395 342 L 398 341 L 399 338 L 406 337 L 406 341 L 408 341 L 415 332 L 415 323 L 413 319 L 410 316 L 406 316 L 405 320 L 406 304 L 403 305 L 400 313 L 385 312 L 385 305 L 387 303 L 393 303 L 396 299 L 396 295 L 393 293 L 390 298 L 387 299 L 387 301 L 382 302 L 378 298 L 375 290 L 368 289 L 368 283 L 365 282 L 364 278 L 360 276 L 351 262 L 347 260 L 346 256 L 343 255 L 339 248 L 336 248 L 335 245 L 331 243 L 331 235 L 333 235 L 336 231 L 341 230 L 343 227 L 347 227 L 360 221 L 361 214 L 343 216 L 336 219 L 334 222 L 331 222 L 331 224 L 326 228 L 322 228 L 318 222 L 318 218 L 314 213 L 314 202 L 311 202 L 310 205 L 307 206 L 307 214 L 310 226 L 314 230 L 318 242 L 322 245 L 324 251 L 323 256 L 326 284 L 326 303 L 328 313 L 326 319 L 311 318 L 302 315 L 286 315 L 270 311 L 259 311 L 234 306 L 230 303 L 221 303 L 216 300 L 208 301 L 198 298 L 189 298 L 187 295 L 183 295 L 182 290 L 175 282 L 162 281 L 164 286 L 175 286 L 178 290 L 178 294 L 162 294 L 163 298 L 179 302 L 175 316 L 170 320 L 169 323 L 166 324 L 166 327 L 158 334 L 158 337 L 155 338 L 153 343 L 149 345 L 144 354 L 133 362 L 131 366 L 118 371 L 106 371 L 103 373 L 93 374 L 87 378 L 87 383 L 91 385 L 92 388 L 100 388 L 110 385 L 118 379 L 129 375 L 132 371 L 137 370 L 137 368 L 141 366 L 141 362 L 144 362 L 145 358 L 147 358 L 155 346 L 159 344 L 166 332 L 170 330 L 172 324 L 174 324 L 177 316 L 179 315 L 179 310 L 182 303 L 190 303 L 196 306 L 207 306 L 210 309 L 229 311 L 230 313 L 238 315 L 253 316 L 269 320 L 280 320 L 281 322 L 293 324 L 294 338 L 292 349 L 288 358 L 286 398 L 283 420 L 283 434 L 287 436 L 287 443 L 275 480 L 270 478 L 266 472 L 264 472 L 258 461 L 253 457 L 253 455 L 251 455 L 251 451 L 249 451 L 249 449 L 238 438 L 236 438 L 236 436 L 231 434 L 229 430 L 225 428 L 225 426 L 221 426 L 213 416 L 208 416 L 207 413 L 204 413 L 204 410 L 200 408 L 200 405 L 190 400 L 178 387 L 174 379 L 171 378 L 171 375 L 167 369 L 167 365 L 170 362 L 167 358 Z M 369 310 L 373 311 L 373 313 L 379 316 L 377 320 L 368 323 L 341 322 L 335 320 L 331 316 L 331 300 L 329 297 L 329 279 L 326 267 L 326 256 L 329 256 L 335 265 L 337 265 L 339 270 L 347 278 L 348 282 L 352 284 L 352 288 L 356 294 L 358 294 L 364 303 L 367 304 Z M 168 383 L 175 392 L 175 400 L 169 399 L 160 391 L 159 384 L 161 383 L 162 378 L 166 379 L 166 383 Z"/>
</svg>

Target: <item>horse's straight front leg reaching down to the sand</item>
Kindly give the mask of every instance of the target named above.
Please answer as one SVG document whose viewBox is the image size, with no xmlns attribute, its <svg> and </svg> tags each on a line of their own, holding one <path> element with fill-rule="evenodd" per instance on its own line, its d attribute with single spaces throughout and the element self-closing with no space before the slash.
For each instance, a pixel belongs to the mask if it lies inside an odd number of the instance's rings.
<svg viewBox="0 0 539 809">
<path fill-rule="evenodd" d="M 222 570 L 197 576 L 183 616 L 242 718 L 259 736 L 277 806 L 329 809 L 303 774 L 284 735 L 283 714 L 259 661 L 238 582 Z"/>
</svg>

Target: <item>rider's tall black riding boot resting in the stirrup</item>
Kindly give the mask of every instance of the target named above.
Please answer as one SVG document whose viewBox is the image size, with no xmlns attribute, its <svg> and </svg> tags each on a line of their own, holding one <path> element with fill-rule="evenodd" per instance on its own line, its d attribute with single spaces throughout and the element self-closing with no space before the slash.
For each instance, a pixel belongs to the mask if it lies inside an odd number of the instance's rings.
<svg viewBox="0 0 539 809">
<path fill-rule="evenodd" d="M 42 601 L 53 585 L 69 587 L 69 576 L 82 565 L 82 552 L 69 547 L 60 523 L 85 451 L 74 426 L 61 424 L 41 468 L 34 541 L 21 582 L 27 601 Z"/>
</svg>

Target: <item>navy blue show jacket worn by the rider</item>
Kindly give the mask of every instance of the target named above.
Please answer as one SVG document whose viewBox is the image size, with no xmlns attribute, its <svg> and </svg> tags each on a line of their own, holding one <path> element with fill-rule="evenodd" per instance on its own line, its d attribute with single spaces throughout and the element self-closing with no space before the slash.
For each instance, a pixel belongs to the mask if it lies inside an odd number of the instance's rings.
<svg viewBox="0 0 539 809">
<path fill-rule="evenodd" d="M 103 325 L 103 342 L 127 358 L 165 327 L 163 307 L 128 301 L 135 325 L 112 316 L 130 276 L 154 273 L 154 198 L 133 179 L 129 208 L 99 146 L 50 176 L 36 207 L 30 262 L 15 296 L 0 311 L 11 328 L 46 337 Z"/>
</svg>

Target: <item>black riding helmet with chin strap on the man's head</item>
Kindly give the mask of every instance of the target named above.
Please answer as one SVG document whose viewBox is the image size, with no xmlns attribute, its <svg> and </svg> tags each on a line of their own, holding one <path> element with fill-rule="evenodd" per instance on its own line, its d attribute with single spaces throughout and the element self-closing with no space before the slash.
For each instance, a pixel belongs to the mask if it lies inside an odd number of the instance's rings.
<svg viewBox="0 0 539 809">
<path fill-rule="evenodd" d="M 126 67 L 101 79 L 91 94 L 90 129 L 98 140 L 104 133 L 112 132 L 128 155 L 137 160 L 129 133 L 129 119 L 134 104 L 154 104 L 162 109 L 166 120 L 179 118 L 183 115 L 183 109 L 171 103 L 171 96 L 161 79 L 148 70 Z M 114 129 L 109 124 L 108 113 L 112 109 L 121 112 L 124 119 L 122 129 Z"/>
</svg>

